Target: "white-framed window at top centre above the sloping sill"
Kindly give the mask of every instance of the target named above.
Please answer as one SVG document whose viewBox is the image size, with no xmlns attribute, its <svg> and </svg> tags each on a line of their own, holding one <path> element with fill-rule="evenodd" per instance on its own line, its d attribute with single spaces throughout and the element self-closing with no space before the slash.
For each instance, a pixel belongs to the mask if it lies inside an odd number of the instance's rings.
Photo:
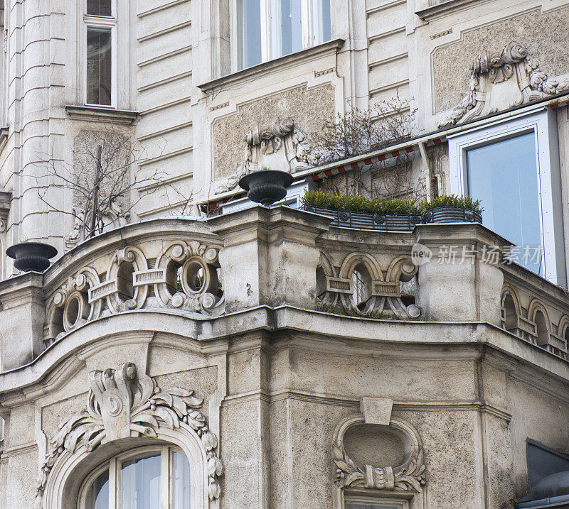
<svg viewBox="0 0 569 509">
<path fill-rule="evenodd" d="M 238 69 L 331 39 L 331 0 L 235 0 Z"/>
</svg>

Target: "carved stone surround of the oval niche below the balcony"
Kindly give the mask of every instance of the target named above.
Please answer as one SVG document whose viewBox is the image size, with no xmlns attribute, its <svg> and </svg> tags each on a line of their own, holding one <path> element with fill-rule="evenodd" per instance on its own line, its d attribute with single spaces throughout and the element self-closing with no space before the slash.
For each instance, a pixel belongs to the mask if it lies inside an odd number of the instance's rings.
<svg viewBox="0 0 569 509">
<path fill-rule="evenodd" d="M 377 490 L 414 490 L 422 492 L 425 485 L 425 464 L 418 433 L 406 422 L 391 419 L 389 428 L 403 435 L 408 453 L 403 464 L 397 466 L 358 465 L 346 454 L 344 434 L 354 425 L 363 424 L 363 417 L 355 417 L 336 429 L 332 446 L 336 484 L 339 488 L 368 488 Z"/>
</svg>

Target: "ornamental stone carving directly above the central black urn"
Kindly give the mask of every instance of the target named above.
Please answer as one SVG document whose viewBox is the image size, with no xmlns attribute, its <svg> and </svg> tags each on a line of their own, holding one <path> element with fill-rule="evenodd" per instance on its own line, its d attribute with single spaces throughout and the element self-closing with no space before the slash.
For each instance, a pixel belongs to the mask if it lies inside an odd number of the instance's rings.
<svg viewBox="0 0 569 509">
<path fill-rule="evenodd" d="M 309 167 L 306 135 L 290 117 L 273 124 L 257 123 L 245 136 L 243 162 L 237 173 L 221 182 L 216 194 L 237 187 L 241 177 L 263 167 L 295 173 Z"/>
</svg>

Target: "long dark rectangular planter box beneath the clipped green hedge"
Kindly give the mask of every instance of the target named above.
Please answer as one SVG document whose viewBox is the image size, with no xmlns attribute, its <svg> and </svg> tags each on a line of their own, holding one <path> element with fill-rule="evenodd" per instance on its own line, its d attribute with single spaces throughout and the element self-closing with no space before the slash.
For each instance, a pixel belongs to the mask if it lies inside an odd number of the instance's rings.
<svg viewBox="0 0 569 509">
<path fill-rule="evenodd" d="M 332 210 L 304 205 L 307 212 L 331 216 L 331 226 L 344 226 L 364 230 L 413 231 L 415 225 L 422 223 L 422 216 L 408 214 L 366 214 L 349 210 Z"/>
</svg>

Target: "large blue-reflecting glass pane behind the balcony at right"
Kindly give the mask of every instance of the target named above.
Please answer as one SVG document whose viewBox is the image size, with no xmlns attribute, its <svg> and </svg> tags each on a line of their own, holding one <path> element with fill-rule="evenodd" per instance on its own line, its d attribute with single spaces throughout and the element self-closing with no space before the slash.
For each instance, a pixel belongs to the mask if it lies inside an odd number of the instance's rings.
<svg viewBox="0 0 569 509">
<path fill-rule="evenodd" d="M 533 132 L 467 152 L 468 194 L 484 225 L 520 246 L 512 259 L 543 275 L 536 141 Z"/>
</svg>

